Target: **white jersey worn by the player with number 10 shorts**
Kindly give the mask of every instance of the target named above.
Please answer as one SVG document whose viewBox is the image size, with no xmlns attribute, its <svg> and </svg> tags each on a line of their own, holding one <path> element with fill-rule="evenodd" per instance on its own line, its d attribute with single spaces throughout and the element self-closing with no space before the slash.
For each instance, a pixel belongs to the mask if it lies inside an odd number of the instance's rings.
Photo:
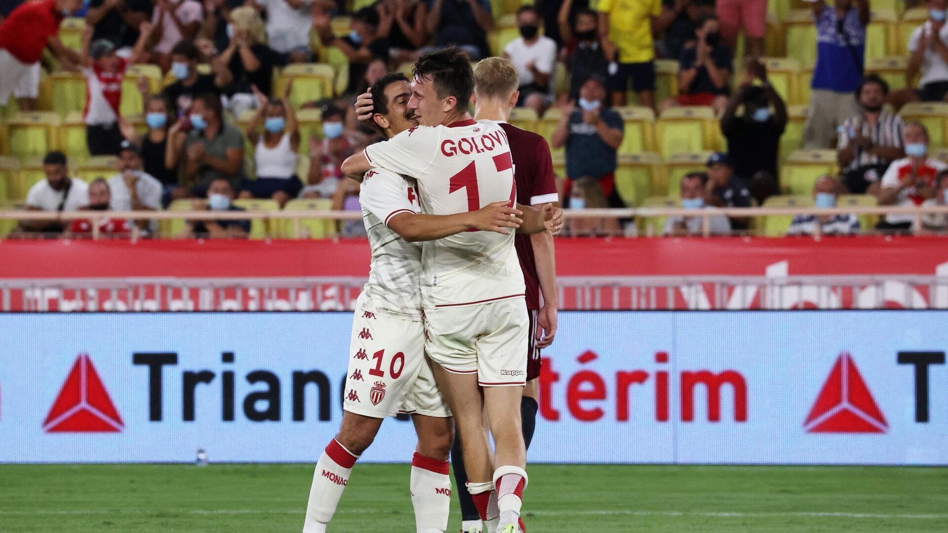
<svg viewBox="0 0 948 533">
<path fill-rule="evenodd" d="M 365 173 L 358 194 L 362 220 L 372 247 L 372 267 L 364 294 L 378 313 L 421 320 L 421 243 L 409 243 L 390 230 L 389 220 L 400 212 L 419 213 L 414 179 L 385 169 Z"/>
</svg>

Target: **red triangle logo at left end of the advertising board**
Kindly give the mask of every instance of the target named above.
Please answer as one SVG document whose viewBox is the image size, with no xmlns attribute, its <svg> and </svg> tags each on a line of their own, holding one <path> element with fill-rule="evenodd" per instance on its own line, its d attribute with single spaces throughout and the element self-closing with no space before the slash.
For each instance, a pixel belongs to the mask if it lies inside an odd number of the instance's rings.
<svg viewBox="0 0 948 533">
<path fill-rule="evenodd" d="M 76 358 L 46 415 L 46 432 L 120 432 L 124 424 L 88 354 Z"/>
</svg>

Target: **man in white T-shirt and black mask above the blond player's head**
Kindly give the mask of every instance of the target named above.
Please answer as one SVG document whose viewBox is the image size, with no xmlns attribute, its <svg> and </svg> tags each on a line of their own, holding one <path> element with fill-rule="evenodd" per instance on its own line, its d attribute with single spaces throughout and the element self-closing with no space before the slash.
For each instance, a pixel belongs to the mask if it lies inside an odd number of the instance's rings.
<svg viewBox="0 0 948 533">
<path fill-rule="evenodd" d="M 542 116 L 553 98 L 553 76 L 556 68 L 556 42 L 539 34 L 539 14 L 533 6 L 517 11 L 520 37 L 503 48 L 503 57 L 510 60 L 520 75 L 519 106 L 535 109 Z"/>
</svg>

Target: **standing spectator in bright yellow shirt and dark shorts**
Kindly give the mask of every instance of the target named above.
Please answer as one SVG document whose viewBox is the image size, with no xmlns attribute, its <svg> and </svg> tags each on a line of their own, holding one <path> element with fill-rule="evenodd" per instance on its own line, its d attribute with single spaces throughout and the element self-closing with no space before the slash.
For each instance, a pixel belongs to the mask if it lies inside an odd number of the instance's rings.
<svg viewBox="0 0 948 533">
<path fill-rule="evenodd" d="M 662 9 L 662 0 L 599 0 L 602 49 L 609 65 L 612 105 L 626 105 L 629 79 L 639 103 L 655 107 L 655 45 L 652 35 L 661 34 L 677 17 L 673 9 Z"/>
</svg>

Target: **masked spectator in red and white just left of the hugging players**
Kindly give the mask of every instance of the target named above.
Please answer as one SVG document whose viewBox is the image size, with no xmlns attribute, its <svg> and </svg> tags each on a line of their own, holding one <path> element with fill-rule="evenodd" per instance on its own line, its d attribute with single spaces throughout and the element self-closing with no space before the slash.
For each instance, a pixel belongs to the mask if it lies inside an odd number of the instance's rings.
<svg viewBox="0 0 948 533">
<path fill-rule="evenodd" d="M 300 197 L 332 198 L 343 178 L 342 161 L 353 155 L 352 142 L 345 135 L 342 110 L 335 105 L 322 107 L 322 140 L 309 138 L 309 175 Z"/>
</svg>

